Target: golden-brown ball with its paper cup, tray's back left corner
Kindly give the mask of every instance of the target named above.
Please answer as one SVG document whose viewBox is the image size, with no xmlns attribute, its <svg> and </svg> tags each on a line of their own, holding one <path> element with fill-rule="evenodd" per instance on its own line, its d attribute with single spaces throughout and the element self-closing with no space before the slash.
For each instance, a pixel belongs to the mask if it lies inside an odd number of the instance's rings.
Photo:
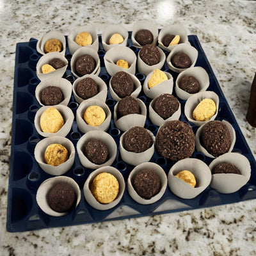
<svg viewBox="0 0 256 256">
<path fill-rule="evenodd" d="M 66 39 L 59 31 L 50 31 L 41 36 L 36 44 L 36 51 L 44 55 L 48 52 L 60 52 L 65 55 Z"/>
</svg>

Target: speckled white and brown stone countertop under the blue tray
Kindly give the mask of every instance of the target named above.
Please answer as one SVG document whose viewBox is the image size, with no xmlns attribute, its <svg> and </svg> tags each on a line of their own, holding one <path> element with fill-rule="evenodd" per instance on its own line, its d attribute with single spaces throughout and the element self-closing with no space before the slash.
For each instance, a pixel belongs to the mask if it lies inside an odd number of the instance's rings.
<svg viewBox="0 0 256 256">
<path fill-rule="evenodd" d="M 92 24 L 132 30 L 181 23 L 197 35 L 256 156 L 256 130 L 245 120 L 256 72 L 256 1 L 0 1 L 0 255 L 256 255 L 256 200 L 129 220 L 32 232 L 6 231 L 15 46 L 48 31 L 67 35 Z"/>
</svg>

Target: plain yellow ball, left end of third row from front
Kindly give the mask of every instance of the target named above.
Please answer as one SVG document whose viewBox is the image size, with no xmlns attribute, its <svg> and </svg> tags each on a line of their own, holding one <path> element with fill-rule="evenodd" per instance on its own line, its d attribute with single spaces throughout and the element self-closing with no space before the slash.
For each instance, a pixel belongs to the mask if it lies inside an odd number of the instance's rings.
<svg viewBox="0 0 256 256">
<path fill-rule="evenodd" d="M 47 108 L 40 117 L 40 126 L 43 132 L 58 132 L 64 125 L 63 117 L 56 108 Z"/>
</svg>

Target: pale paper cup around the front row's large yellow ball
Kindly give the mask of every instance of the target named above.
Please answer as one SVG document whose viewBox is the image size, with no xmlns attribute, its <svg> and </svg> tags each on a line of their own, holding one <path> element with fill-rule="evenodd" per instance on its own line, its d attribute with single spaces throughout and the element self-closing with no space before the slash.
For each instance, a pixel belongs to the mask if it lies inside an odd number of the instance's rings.
<svg viewBox="0 0 256 256">
<path fill-rule="evenodd" d="M 109 204 L 100 204 L 95 197 L 92 195 L 92 192 L 90 191 L 90 187 L 92 185 L 93 179 L 102 172 L 110 173 L 116 177 L 119 183 L 119 192 L 118 195 L 116 196 L 115 200 Z M 125 182 L 124 182 L 124 177 L 123 175 L 114 167 L 112 166 L 104 166 L 101 167 L 94 172 L 92 172 L 86 182 L 84 183 L 84 198 L 90 204 L 93 208 L 104 211 L 111 209 L 115 207 L 120 200 L 122 199 L 122 196 L 124 195 L 124 189 L 125 189 Z"/>
</svg>

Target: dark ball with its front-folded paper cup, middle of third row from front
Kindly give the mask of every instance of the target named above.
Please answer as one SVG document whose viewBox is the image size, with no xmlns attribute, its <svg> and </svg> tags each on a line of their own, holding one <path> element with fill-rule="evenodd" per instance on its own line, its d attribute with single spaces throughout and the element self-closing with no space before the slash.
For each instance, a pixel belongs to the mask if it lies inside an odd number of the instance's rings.
<svg viewBox="0 0 256 256">
<path fill-rule="evenodd" d="M 144 127 L 147 108 L 142 100 L 127 96 L 118 101 L 114 108 L 114 122 L 118 129 L 127 131 L 131 127 Z"/>
</svg>

